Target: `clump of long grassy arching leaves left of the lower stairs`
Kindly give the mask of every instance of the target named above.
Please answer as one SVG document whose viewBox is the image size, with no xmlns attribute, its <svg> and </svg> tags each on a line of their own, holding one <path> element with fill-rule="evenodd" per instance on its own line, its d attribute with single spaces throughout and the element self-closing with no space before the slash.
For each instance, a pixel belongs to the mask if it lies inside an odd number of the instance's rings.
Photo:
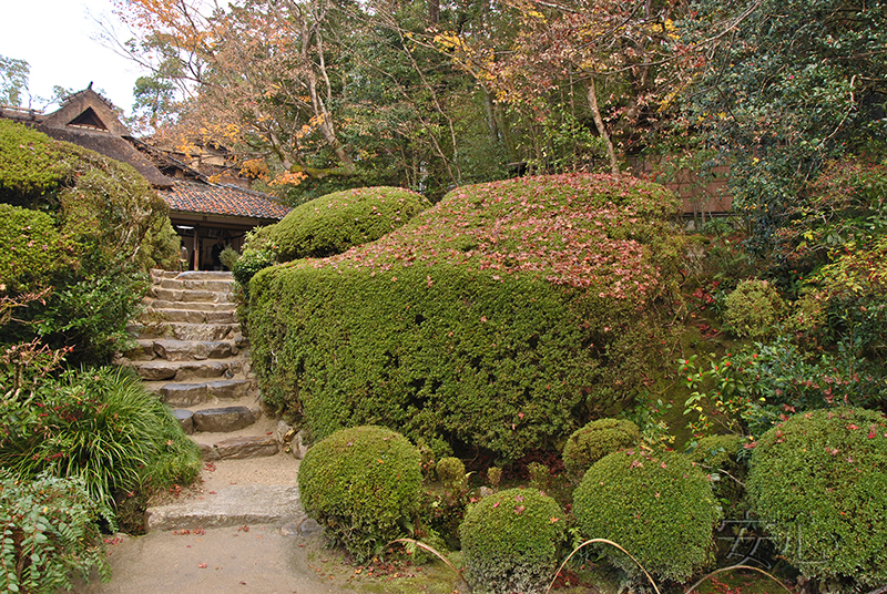
<svg viewBox="0 0 887 594">
<path fill-rule="evenodd" d="M 0 370 L 7 392 L 14 370 Z M 170 409 L 122 369 L 67 371 L 0 402 L 0 468 L 22 480 L 80 478 L 96 503 L 114 495 L 188 484 L 200 452 Z"/>
</svg>

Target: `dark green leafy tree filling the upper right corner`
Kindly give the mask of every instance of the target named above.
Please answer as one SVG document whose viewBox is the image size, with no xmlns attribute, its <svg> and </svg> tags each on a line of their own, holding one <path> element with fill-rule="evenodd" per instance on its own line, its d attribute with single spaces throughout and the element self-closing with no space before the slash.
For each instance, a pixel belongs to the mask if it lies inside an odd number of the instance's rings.
<svg viewBox="0 0 887 594">
<path fill-rule="evenodd" d="M 805 188 L 830 161 L 884 158 L 887 3 L 701 0 L 694 8 L 682 34 L 707 43 L 708 60 L 687 95 L 690 119 L 731 164 L 734 206 L 753 223 L 750 247 L 773 255 L 779 231 L 812 206 Z"/>
</svg>

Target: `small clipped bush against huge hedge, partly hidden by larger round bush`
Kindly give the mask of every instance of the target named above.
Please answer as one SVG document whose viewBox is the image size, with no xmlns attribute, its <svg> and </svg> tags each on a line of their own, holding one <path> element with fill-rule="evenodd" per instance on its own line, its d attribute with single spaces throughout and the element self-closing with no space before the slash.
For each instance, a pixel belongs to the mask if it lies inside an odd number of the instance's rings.
<svg viewBox="0 0 887 594">
<path fill-rule="evenodd" d="M 563 447 L 563 465 L 579 481 L 606 454 L 638 445 L 641 430 L 629 420 L 598 419 L 577 429 Z"/>
</svg>

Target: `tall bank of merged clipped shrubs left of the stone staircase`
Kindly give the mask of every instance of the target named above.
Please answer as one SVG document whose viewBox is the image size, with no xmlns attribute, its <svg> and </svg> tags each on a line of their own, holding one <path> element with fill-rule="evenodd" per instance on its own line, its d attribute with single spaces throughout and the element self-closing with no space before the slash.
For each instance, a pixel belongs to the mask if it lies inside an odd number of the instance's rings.
<svg viewBox="0 0 887 594">
<path fill-rule="evenodd" d="M 74 347 L 71 362 L 109 359 L 147 288 L 143 273 L 177 265 L 166 203 L 130 165 L 0 120 L 0 204 L 3 296 L 52 289 L 16 310 L 0 342 L 40 338 Z"/>
</svg>

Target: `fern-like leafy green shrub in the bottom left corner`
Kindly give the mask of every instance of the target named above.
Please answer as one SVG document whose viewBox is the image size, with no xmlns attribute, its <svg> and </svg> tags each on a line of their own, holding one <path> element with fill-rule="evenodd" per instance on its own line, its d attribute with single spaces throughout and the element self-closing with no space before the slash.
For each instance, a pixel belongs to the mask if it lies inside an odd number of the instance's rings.
<svg viewBox="0 0 887 594">
<path fill-rule="evenodd" d="M 72 587 L 74 574 L 93 569 L 111 577 L 100 509 L 77 479 L 38 477 L 18 481 L 0 469 L 0 584 L 3 592 L 54 594 Z"/>
</svg>

